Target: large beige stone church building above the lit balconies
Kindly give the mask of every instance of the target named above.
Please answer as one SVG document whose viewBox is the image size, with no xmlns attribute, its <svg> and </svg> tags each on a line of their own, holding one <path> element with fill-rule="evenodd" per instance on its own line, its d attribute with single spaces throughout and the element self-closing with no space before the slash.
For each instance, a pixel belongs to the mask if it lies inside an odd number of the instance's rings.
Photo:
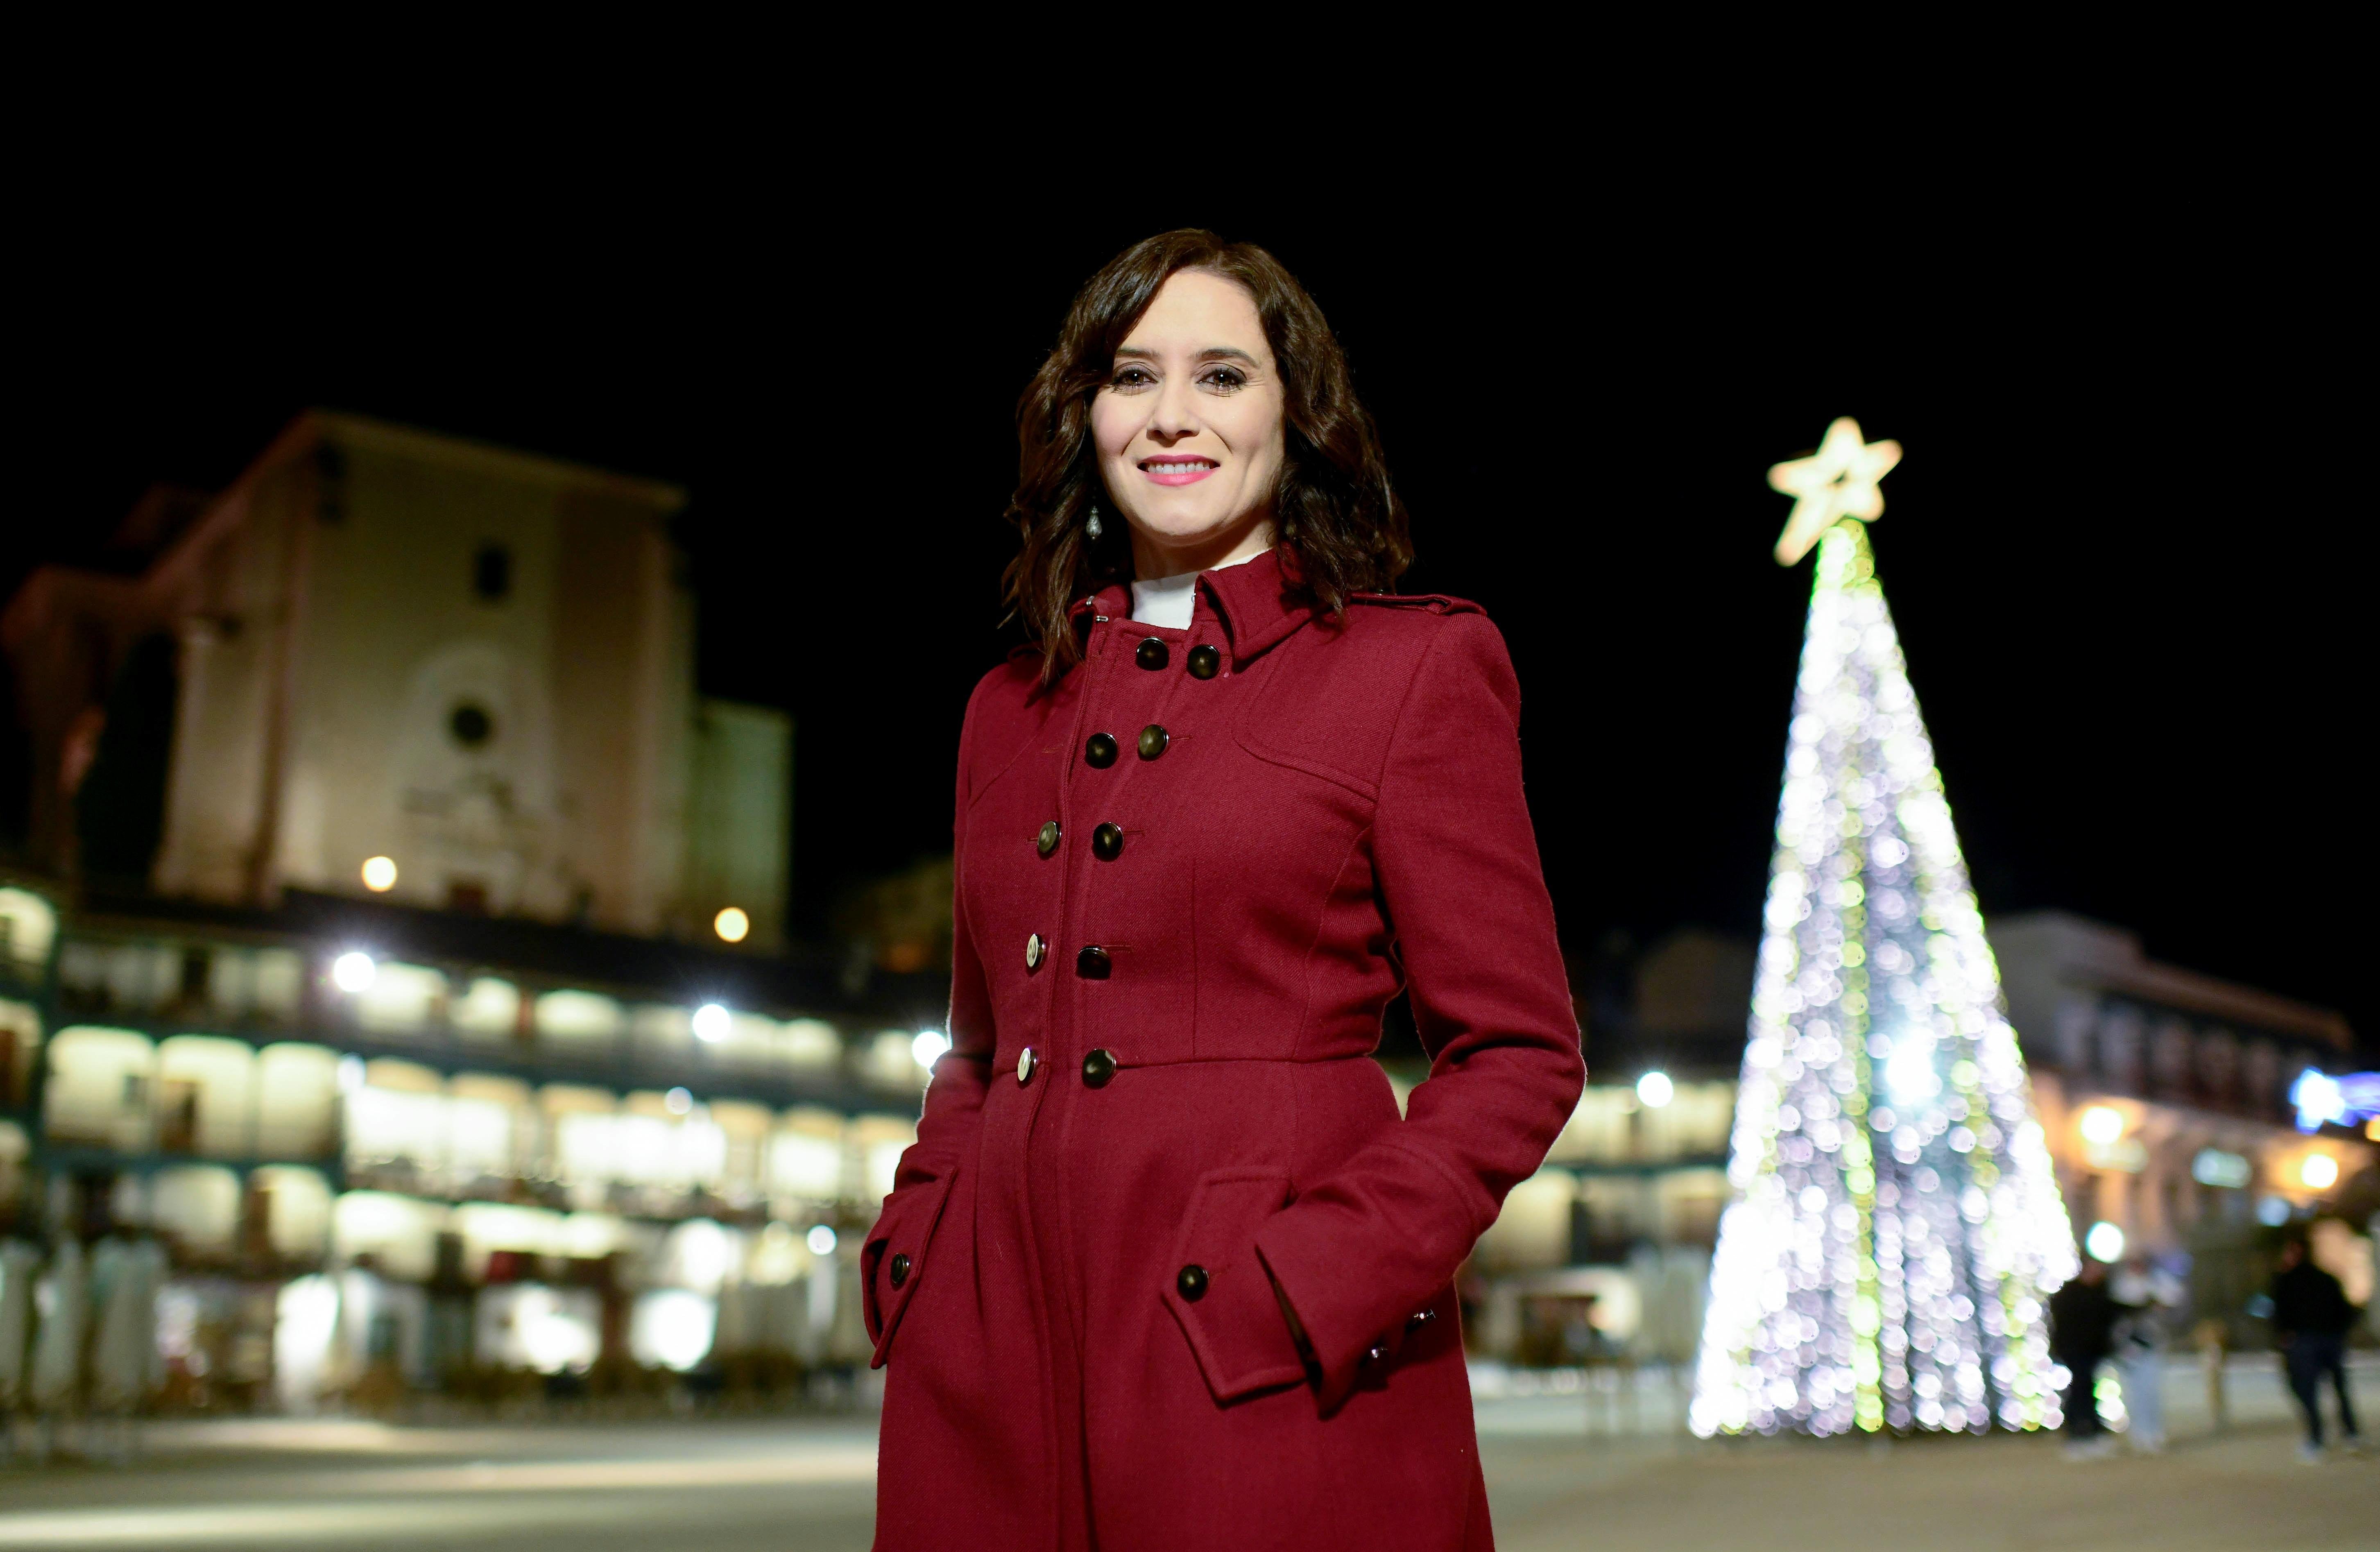
<svg viewBox="0 0 2380 1552">
<path fill-rule="evenodd" d="M 793 733 L 695 695 L 683 500 L 324 412 L 212 500 L 155 493 L 136 571 L 45 567 L 0 614 L 31 862 L 635 935 L 735 907 L 774 950 Z"/>
</svg>

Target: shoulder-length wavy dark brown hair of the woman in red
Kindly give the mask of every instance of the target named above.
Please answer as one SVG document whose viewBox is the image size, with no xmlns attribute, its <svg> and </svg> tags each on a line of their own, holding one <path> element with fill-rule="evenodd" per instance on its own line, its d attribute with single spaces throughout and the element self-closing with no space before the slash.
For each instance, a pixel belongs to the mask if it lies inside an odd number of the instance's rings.
<svg viewBox="0 0 2380 1552">
<path fill-rule="evenodd" d="M 1273 488 L 1273 540 L 1297 552 L 1295 574 L 1314 602 L 1338 614 L 1349 593 L 1388 593 L 1414 564 L 1380 433 L 1354 398 L 1347 355 L 1323 309 L 1254 243 L 1169 231 L 1133 243 L 1083 283 L 1050 359 L 1016 402 L 1016 495 L 1007 517 L 1023 543 L 1002 586 L 1012 619 L 1042 652 L 1045 681 L 1083 655 L 1069 621 L 1073 600 L 1130 574 L 1130 536 L 1114 502 L 1104 536 L 1092 540 L 1088 533 L 1090 502 L 1100 495 L 1090 400 L 1157 288 L 1183 269 L 1238 281 L 1257 302 L 1283 386 L 1285 457 Z"/>
</svg>

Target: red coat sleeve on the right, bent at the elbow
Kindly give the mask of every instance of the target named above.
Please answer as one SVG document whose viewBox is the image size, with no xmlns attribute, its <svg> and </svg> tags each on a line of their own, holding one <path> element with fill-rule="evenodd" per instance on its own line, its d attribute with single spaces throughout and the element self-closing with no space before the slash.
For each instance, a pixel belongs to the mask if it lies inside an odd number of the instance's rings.
<svg viewBox="0 0 2380 1552">
<path fill-rule="evenodd" d="M 1402 1126 L 1257 1235 L 1321 1369 L 1326 1409 L 1452 1281 L 1585 1085 L 1554 907 L 1521 795 L 1521 690 L 1483 614 L 1449 614 L 1414 674 L 1373 866 L 1430 1052 Z"/>
</svg>

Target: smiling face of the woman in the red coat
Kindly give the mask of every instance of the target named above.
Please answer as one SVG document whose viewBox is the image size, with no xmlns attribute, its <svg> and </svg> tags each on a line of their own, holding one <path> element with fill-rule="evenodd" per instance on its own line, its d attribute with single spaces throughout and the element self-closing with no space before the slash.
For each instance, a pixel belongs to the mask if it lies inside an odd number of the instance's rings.
<svg viewBox="0 0 2380 1552">
<path fill-rule="evenodd" d="M 1207 571 L 1273 543 L 1280 405 L 1254 298 L 1204 269 L 1173 274 L 1090 405 L 1135 574 Z"/>
</svg>

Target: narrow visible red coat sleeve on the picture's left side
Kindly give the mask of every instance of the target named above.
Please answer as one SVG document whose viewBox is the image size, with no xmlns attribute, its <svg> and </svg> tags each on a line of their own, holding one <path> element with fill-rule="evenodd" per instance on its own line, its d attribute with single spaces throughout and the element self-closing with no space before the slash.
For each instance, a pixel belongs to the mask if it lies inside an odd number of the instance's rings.
<svg viewBox="0 0 2380 1552">
<path fill-rule="evenodd" d="M 985 681 L 985 686 L 990 678 Z M 969 759 L 966 750 L 976 726 L 976 702 L 983 686 L 976 686 L 966 705 L 966 721 L 959 731 L 959 793 L 952 821 L 952 933 L 950 933 L 950 1052 L 933 1064 L 933 1081 L 926 1085 L 926 1109 L 916 1124 L 916 1143 L 900 1157 L 892 1174 L 892 1195 L 885 1197 L 876 1226 L 859 1247 L 862 1307 L 866 1309 L 869 1340 L 876 1343 L 876 1362 L 883 1362 L 888 1331 L 900 1319 L 904 1288 L 892 1288 L 878 1269 L 888 1254 L 923 1257 L 923 1240 L 940 1214 L 942 1197 L 957 1176 L 959 1162 L 973 1154 L 976 1133 L 983 1126 L 983 1095 L 992 1081 L 992 995 L 983 978 L 983 959 L 976 955 L 973 935 L 966 931 L 966 800 Z"/>
</svg>

